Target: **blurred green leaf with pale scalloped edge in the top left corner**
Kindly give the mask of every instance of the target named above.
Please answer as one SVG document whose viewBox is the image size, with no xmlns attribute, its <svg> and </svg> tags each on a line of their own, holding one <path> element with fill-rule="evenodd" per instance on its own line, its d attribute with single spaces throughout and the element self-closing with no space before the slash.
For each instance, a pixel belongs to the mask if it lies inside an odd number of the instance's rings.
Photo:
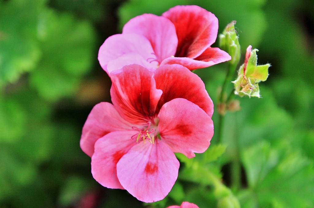
<svg viewBox="0 0 314 208">
<path fill-rule="evenodd" d="M 44 3 L 44 0 L 0 1 L 0 86 L 35 68 L 41 55 L 37 26 Z"/>
</svg>

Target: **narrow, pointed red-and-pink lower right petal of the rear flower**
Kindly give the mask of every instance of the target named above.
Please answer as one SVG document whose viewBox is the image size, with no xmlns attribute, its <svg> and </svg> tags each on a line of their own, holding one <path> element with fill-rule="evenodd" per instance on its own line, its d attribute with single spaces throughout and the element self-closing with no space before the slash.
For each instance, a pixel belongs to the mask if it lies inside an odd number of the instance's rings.
<svg viewBox="0 0 314 208">
<path fill-rule="evenodd" d="M 165 64 L 180 64 L 190 70 L 210 67 L 215 64 L 229 61 L 231 56 L 219 48 L 208 47 L 200 56 L 191 59 L 187 57 L 169 57 L 161 62 L 161 66 Z"/>
</svg>

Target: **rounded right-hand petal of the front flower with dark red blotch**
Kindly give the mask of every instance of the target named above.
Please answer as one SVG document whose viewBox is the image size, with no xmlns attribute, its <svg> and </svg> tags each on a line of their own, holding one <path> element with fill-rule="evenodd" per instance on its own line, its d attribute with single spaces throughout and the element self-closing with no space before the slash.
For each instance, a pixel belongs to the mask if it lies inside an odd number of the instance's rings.
<svg viewBox="0 0 314 208">
<path fill-rule="evenodd" d="M 158 118 L 161 139 L 173 152 L 192 158 L 193 152 L 207 150 L 214 124 L 198 105 L 183 98 L 173 99 L 162 106 Z"/>
</svg>

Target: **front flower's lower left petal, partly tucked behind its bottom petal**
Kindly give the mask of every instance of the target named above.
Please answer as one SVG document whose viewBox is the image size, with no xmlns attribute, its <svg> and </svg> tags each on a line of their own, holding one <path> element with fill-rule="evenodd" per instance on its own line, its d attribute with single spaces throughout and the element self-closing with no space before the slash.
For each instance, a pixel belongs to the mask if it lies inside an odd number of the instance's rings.
<svg viewBox="0 0 314 208">
<path fill-rule="evenodd" d="M 114 131 L 95 143 L 92 174 L 101 185 L 110 189 L 124 189 L 117 178 L 116 164 L 137 143 L 131 139 L 136 131 Z"/>
</svg>

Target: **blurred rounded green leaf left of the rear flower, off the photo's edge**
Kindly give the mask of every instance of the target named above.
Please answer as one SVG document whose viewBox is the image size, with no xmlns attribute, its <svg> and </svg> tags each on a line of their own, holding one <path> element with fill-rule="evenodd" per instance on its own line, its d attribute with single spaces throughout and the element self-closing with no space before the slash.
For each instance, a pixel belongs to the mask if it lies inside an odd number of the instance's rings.
<svg viewBox="0 0 314 208">
<path fill-rule="evenodd" d="M 41 14 L 42 59 L 30 75 L 31 85 L 49 101 L 73 95 L 81 77 L 90 70 L 95 32 L 88 22 L 70 14 Z"/>
</svg>

